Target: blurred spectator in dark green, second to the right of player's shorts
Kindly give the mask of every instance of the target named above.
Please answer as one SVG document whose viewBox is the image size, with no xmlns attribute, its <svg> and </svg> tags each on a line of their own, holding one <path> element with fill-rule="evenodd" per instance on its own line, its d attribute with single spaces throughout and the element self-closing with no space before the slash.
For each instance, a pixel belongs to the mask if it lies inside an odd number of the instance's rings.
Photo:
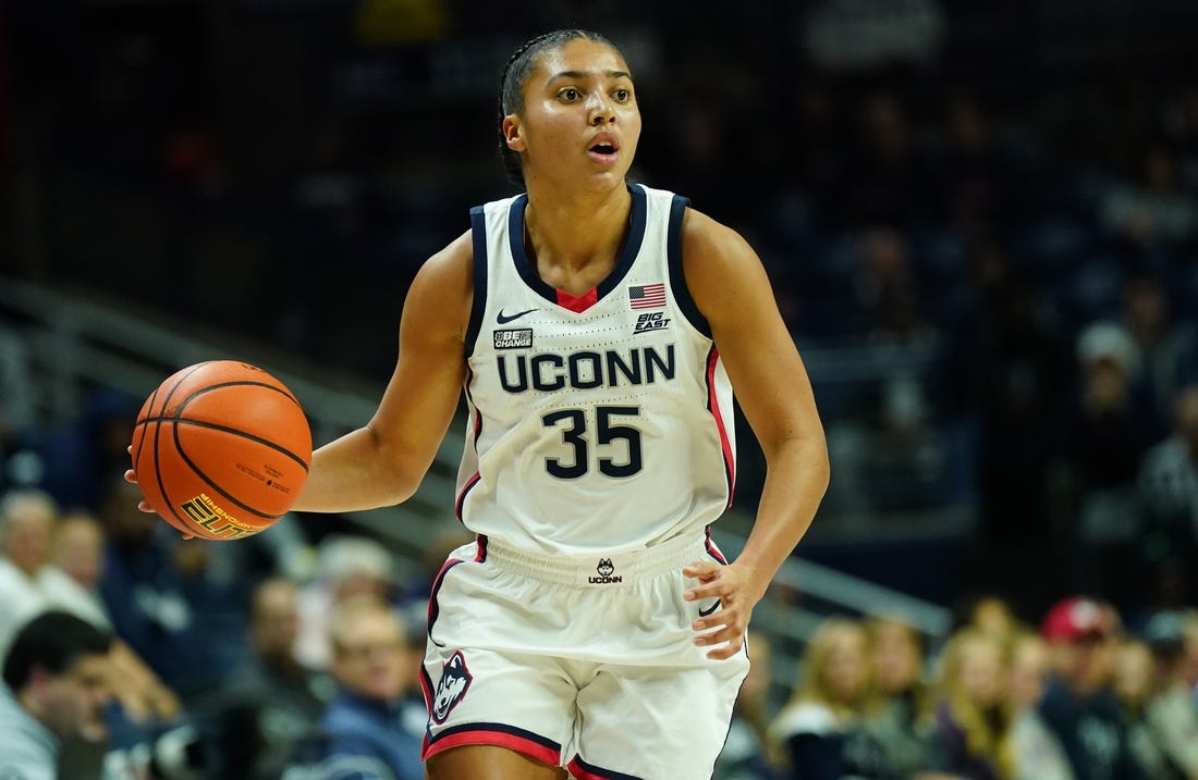
<svg viewBox="0 0 1198 780">
<path fill-rule="evenodd" d="M 867 617 L 865 627 L 879 699 L 877 709 L 865 719 L 866 730 L 881 743 L 887 766 L 898 776 L 909 778 L 940 766 L 922 634 L 891 616 Z"/>
</svg>

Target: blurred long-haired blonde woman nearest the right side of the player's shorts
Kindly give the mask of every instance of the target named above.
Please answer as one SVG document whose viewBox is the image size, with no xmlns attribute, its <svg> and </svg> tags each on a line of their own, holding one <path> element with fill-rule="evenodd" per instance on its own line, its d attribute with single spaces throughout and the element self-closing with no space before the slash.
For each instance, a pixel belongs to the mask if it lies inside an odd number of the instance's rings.
<svg viewBox="0 0 1198 780">
<path fill-rule="evenodd" d="M 786 752 L 793 780 L 891 778 L 883 747 L 864 729 L 871 713 L 871 668 L 865 627 L 829 617 L 800 660 L 800 678 L 769 726 Z"/>
</svg>

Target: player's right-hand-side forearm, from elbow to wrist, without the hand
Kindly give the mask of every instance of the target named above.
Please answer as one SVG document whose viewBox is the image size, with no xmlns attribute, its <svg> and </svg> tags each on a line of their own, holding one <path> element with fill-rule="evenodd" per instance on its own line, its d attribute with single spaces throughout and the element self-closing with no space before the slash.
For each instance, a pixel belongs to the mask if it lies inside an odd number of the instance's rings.
<svg viewBox="0 0 1198 780">
<path fill-rule="evenodd" d="M 768 458 L 757 519 L 737 556 L 738 566 L 752 569 L 758 597 L 810 528 L 828 477 L 828 449 L 822 437 L 793 439 Z"/>
</svg>

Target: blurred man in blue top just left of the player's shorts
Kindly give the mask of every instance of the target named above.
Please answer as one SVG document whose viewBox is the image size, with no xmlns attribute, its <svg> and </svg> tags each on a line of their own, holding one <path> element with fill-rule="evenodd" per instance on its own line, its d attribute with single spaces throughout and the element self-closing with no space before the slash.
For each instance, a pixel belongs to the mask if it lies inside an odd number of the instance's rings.
<svg viewBox="0 0 1198 780">
<path fill-rule="evenodd" d="M 418 665 L 398 613 L 361 593 L 337 607 L 329 632 L 338 694 L 320 721 L 326 762 L 353 767 L 361 780 L 423 780 L 426 711 L 413 729 L 405 697 L 417 688 Z"/>
</svg>

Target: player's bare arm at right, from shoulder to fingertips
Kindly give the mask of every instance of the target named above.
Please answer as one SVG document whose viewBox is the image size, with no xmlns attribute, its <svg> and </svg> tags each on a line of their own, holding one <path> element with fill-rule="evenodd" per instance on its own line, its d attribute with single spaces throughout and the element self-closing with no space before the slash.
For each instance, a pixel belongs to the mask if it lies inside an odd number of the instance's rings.
<svg viewBox="0 0 1198 780">
<path fill-rule="evenodd" d="M 700 583 L 689 597 L 722 601 L 719 613 L 696 621 L 696 630 L 708 632 L 696 641 L 722 645 L 708 654 L 727 658 L 740 648 L 754 605 L 811 525 L 828 487 L 828 447 L 806 368 L 757 254 L 736 231 L 688 209 L 683 263 L 767 463 L 744 550 L 727 567 L 686 572 Z"/>
</svg>

